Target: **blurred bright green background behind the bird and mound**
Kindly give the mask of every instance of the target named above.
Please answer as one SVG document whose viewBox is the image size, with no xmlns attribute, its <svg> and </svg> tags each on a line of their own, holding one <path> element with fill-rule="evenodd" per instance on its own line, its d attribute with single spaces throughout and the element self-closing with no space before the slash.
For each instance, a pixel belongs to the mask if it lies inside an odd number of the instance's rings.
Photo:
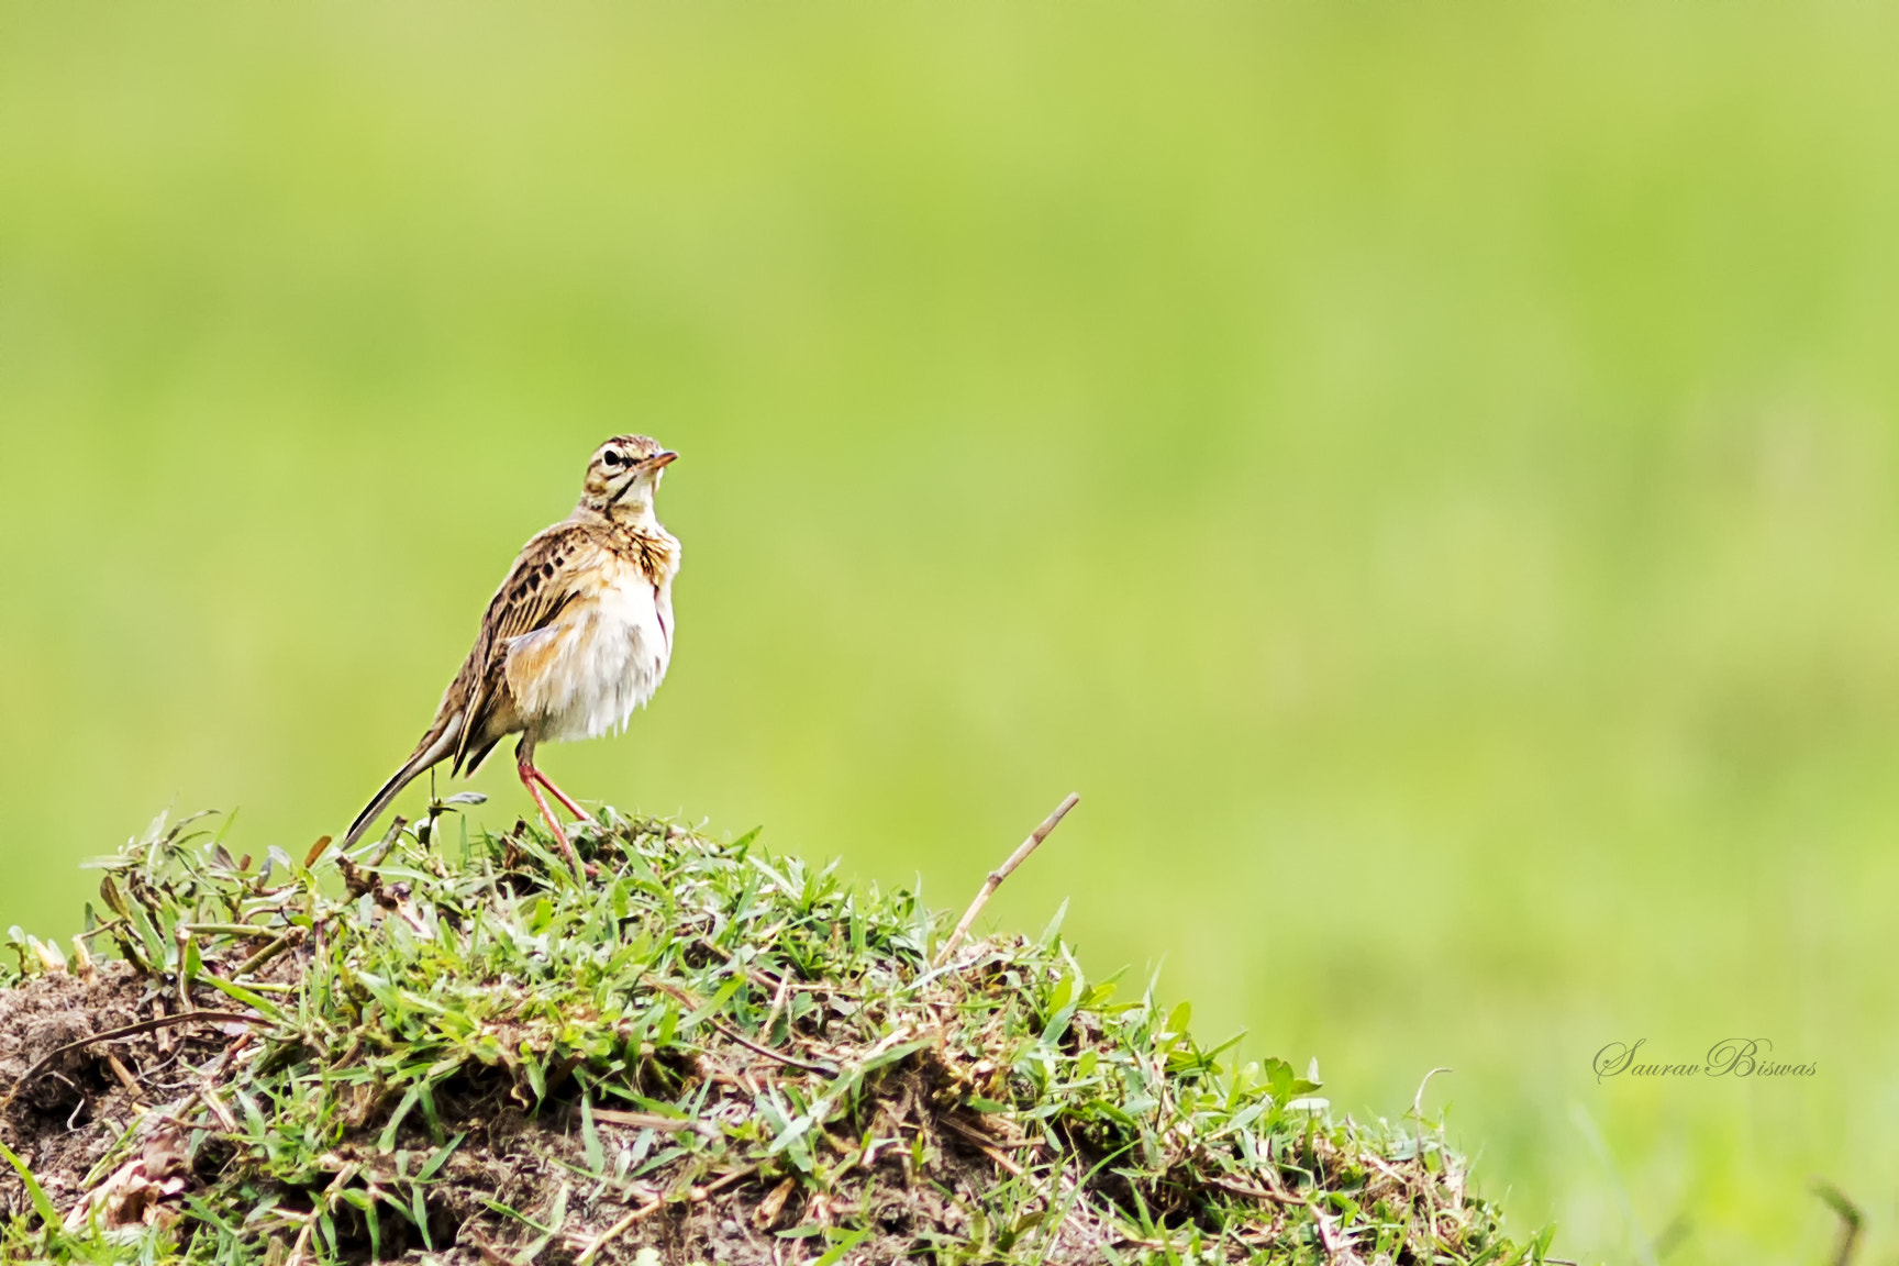
<svg viewBox="0 0 1899 1266">
<path fill-rule="evenodd" d="M 1453 1067 L 1565 1257 L 1821 1260 L 1823 1175 L 1893 1260 L 1895 36 L 8 0 L 0 926 L 346 824 L 649 431 L 678 657 L 564 786 L 938 905 L 1075 788 L 1001 926 L 1341 1108 Z M 1819 1072 L 1589 1074 L 1734 1034 Z"/>
</svg>

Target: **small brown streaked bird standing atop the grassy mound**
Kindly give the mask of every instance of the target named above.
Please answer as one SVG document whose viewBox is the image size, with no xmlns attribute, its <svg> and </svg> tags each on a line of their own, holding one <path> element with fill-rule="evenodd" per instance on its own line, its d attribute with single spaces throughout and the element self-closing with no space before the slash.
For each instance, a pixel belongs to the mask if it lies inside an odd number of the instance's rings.
<svg viewBox="0 0 1899 1266">
<path fill-rule="evenodd" d="M 659 524 L 653 499 L 676 457 L 644 435 L 615 435 L 594 450 L 579 505 L 520 549 L 435 719 L 349 824 L 344 848 L 422 773 L 452 759 L 452 773 L 473 774 L 496 744 L 520 735 L 520 782 L 568 866 L 583 873 L 541 788 L 577 820 L 592 818 L 536 767 L 534 752 L 625 729 L 667 676 L 680 541 Z"/>
</svg>

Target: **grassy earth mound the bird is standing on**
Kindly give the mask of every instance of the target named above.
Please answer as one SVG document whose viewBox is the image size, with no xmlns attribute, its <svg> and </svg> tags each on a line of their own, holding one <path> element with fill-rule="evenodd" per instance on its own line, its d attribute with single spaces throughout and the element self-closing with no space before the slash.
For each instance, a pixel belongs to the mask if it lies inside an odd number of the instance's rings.
<svg viewBox="0 0 1899 1266">
<path fill-rule="evenodd" d="M 913 896 L 752 837 L 606 810 L 577 883 L 454 809 L 262 866 L 158 824 L 70 957 L 15 932 L 0 1258 L 1542 1260 L 1436 1129 L 1223 1069 L 1058 928 L 932 968 Z"/>
</svg>

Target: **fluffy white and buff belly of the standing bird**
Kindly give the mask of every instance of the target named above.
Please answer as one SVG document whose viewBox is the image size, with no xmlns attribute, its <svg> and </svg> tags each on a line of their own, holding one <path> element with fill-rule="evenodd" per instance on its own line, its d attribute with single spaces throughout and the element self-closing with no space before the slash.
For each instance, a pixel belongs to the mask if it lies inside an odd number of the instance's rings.
<svg viewBox="0 0 1899 1266">
<path fill-rule="evenodd" d="M 536 672 L 515 672 L 534 662 Z M 668 594 L 632 573 L 509 647 L 509 687 L 541 742 L 596 738 L 625 729 L 659 689 L 672 659 Z M 520 678 L 520 680 L 517 680 Z"/>
</svg>

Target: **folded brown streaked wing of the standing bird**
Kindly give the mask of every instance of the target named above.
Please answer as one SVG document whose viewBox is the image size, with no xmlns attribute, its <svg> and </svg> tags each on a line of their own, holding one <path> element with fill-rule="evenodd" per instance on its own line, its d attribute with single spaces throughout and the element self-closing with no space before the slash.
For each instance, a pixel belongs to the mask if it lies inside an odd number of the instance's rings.
<svg viewBox="0 0 1899 1266">
<path fill-rule="evenodd" d="M 507 689 L 503 668 L 507 647 L 515 638 L 547 628 L 560 611 L 581 594 L 581 583 L 592 571 L 600 545 L 572 524 L 556 524 L 539 533 L 520 550 L 501 588 L 496 590 L 482 615 L 480 634 L 469 651 L 461 674 L 469 678 L 469 702 L 463 716 L 461 742 L 456 750 L 456 771 L 475 755 L 488 754 L 501 735 L 488 735 L 496 719 L 501 693 Z"/>
</svg>

